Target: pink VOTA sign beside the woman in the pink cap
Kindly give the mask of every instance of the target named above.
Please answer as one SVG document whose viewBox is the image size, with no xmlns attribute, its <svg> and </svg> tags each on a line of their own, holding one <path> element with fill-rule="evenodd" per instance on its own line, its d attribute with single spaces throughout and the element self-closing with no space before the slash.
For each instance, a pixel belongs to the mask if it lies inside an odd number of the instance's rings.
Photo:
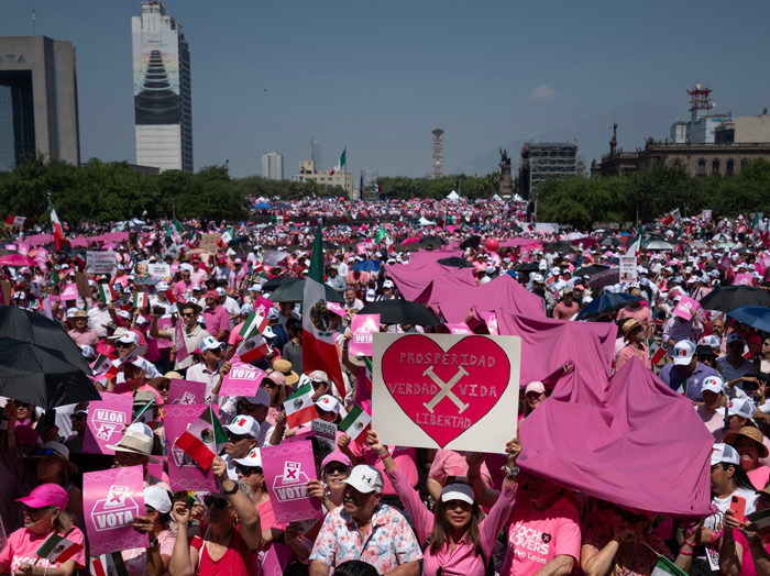
<svg viewBox="0 0 770 576">
<path fill-rule="evenodd" d="M 133 528 L 145 514 L 142 466 L 84 474 L 82 512 L 91 555 L 147 547 L 147 534 Z"/>
</svg>

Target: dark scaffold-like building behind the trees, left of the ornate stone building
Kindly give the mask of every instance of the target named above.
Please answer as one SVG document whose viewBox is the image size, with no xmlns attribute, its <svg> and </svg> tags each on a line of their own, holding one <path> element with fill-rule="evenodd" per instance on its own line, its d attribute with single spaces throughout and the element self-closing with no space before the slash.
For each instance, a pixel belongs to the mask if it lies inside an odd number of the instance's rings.
<svg viewBox="0 0 770 576">
<path fill-rule="evenodd" d="M 519 193 L 531 198 L 540 182 L 549 178 L 566 178 L 578 174 L 575 142 L 535 142 L 521 146 Z"/>
</svg>

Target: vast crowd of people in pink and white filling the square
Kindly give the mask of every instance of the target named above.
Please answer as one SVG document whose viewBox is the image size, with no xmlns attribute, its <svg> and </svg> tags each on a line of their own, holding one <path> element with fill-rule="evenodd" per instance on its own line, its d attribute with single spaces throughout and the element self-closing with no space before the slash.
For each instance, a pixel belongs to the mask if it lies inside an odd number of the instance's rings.
<svg viewBox="0 0 770 576">
<path fill-rule="evenodd" d="M 144 477 L 145 510 L 133 528 L 147 535 L 147 545 L 122 551 L 121 569 L 130 575 L 263 574 L 272 549 L 287 558 L 284 574 L 314 576 L 649 575 L 661 562 L 669 573 L 770 574 L 770 522 L 754 516 L 770 509 L 770 334 L 732 318 L 733 306 L 707 303 L 736 284 L 754 288 L 760 302 L 768 297 L 770 253 L 761 226 L 749 217 L 711 214 L 663 221 L 645 230 L 637 248 L 637 231 L 563 233 L 521 222 L 524 209 L 499 200 L 305 199 L 265 209 L 274 217 L 270 224 L 164 221 L 117 233 L 70 224 L 64 246 L 7 229 L 3 254 L 31 262 L 0 268 L 4 304 L 59 323 L 91 365 L 99 392 L 152 409 L 127 423 L 108 446 L 113 456 L 84 452 L 88 402 L 56 407 L 52 418 L 23 398 L 3 400 L 0 574 L 94 571 L 82 475 L 112 467 L 142 467 Z M 356 224 L 378 217 L 382 223 Z M 342 387 L 304 357 L 301 299 L 271 301 L 287 278 L 307 277 L 323 218 L 341 219 L 323 229 L 322 274 L 339 295 L 329 315 Z M 219 243 L 202 245 L 207 234 L 219 234 Z M 669 245 L 647 250 L 651 239 Z M 113 272 L 89 273 L 80 248 L 112 251 Z M 622 277 L 619 258 L 627 253 L 636 255 L 635 268 Z M 539 297 L 543 318 L 614 323 L 610 369 L 639 358 L 661 386 L 692 402 L 713 435 L 713 514 L 673 518 L 519 469 L 519 455 L 532 446 L 518 436 L 459 453 L 384 445 L 372 430 L 356 441 L 338 431 L 334 446 L 311 437 L 318 479 L 307 490 L 324 517 L 310 525 L 277 522 L 261 451 L 302 432 L 287 424 L 286 399 L 309 384 L 317 419 L 334 424 L 358 406 L 370 410 L 359 370 L 366 358 L 350 353 L 352 321 L 370 303 L 408 299 L 430 307 L 436 322 L 382 321 L 381 331 L 450 332 L 441 301 L 406 281 L 426 263 L 439 266 L 439 258 L 454 262 L 431 269 L 464 270 L 469 290 L 507 277 Z M 73 288 L 79 273 L 87 275 L 85 290 Z M 239 361 L 242 328 L 264 300 L 272 302 L 261 331 L 266 353 L 252 364 L 266 375 L 254 396 L 220 395 Z M 681 312 L 680 304 L 701 301 Z M 465 329 L 495 334 L 497 326 L 479 312 L 469 303 Z M 547 376 L 521 383 L 519 413 L 510 414 L 519 428 L 558 385 Z M 169 487 L 163 408 L 175 379 L 204 383 L 206 403 L 219 409 L 228 442 L 211 464 L 218 491 Z M 84 547 L 64 562 L 42 558 L 40 546 L 52 534 Z"/>
</svg>

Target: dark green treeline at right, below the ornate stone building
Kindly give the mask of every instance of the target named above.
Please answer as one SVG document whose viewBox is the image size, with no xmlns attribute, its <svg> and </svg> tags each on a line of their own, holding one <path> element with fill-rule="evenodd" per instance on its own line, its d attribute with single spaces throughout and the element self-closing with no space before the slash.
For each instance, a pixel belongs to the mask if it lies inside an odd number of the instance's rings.
<svg viewBox="0 0 770 576">
<path fill-rule="evenodd" d="M 734 176 L 692 177 L 656 167 L 612 177 L 547 180 L 538 189 L 538 220 L 584 229 L 598 223 L 653 222 L 679 208 L 682 215 L 770 213 L 770 163 L 755 160 Z"/>
</svg>

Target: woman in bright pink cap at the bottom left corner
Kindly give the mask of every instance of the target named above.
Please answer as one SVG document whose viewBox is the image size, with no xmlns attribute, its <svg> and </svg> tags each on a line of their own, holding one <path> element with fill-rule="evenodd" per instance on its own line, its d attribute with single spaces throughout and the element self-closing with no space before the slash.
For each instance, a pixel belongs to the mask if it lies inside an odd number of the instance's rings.
<svg viewBox="0 0 770 576">
<path fill-rule="evenodd" d="M 13 532 L 0 551 L 0 573 L 72 576 L 86 567 L 85 536 L 64 511 L 67 499 L 61 486 L 43 484 L 16 500 L 23 505 L 24 528 Z"/>
</svg>

